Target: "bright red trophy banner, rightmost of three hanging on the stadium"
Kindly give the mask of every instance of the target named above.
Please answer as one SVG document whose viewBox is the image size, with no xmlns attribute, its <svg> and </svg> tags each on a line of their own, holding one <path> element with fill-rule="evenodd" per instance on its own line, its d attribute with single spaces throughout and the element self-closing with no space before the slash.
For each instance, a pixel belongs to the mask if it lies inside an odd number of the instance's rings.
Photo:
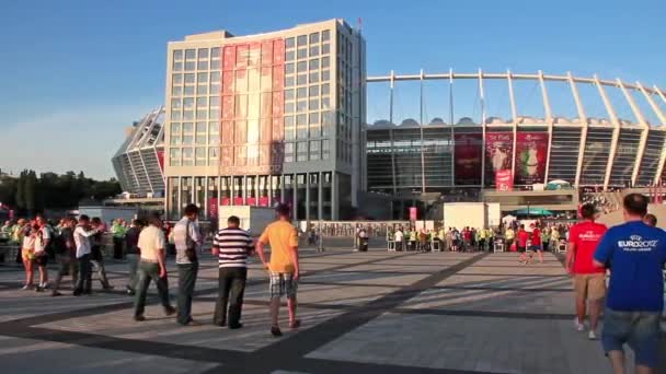
<svg viewBox="0 0 666 374">
<path fill-rule="evenodd" d="M 516 175 L 518 185 L 543 183 L 548 132 L 518 132 L 516 138 Z"/>
</svg>

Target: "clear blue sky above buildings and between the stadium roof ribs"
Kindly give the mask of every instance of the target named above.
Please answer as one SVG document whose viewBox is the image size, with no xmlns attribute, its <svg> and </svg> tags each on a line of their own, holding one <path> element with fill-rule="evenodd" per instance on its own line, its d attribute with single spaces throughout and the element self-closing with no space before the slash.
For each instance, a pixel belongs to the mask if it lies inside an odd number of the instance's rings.
<svg viewBox="0 0 666 374">
<path fill-rule="evenodd" d="M 164 100 L 166 42 L 187 34 L 243 35 L 333 17 L 356 25 L 363 17 L 369 74 L 571 70 L 664 89 L 664 14 L 663 0 L 3 0 L 0 167 L 112 176 L 123 129 Z M 460 90 L 456 117 L 478 115 L 475 87 Z M 535 86 L 518 90 L 526 109 L 535 105 Z M 417 116 L 414 92 L 399 87 L 397 117 Z M 426 95 L 428 118 L 448 120 L 443 96 Z M 371 87 L 369 96 L 368 120 L 387 117 L 386 90 Z M 490 110 L 505 116 L 505 95 L 495 97 Z"/>
</svg>

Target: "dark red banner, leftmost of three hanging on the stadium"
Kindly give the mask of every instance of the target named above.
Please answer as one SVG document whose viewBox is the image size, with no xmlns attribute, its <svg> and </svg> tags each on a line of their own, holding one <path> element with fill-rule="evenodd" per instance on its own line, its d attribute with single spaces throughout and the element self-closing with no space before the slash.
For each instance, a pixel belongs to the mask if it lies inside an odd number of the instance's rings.
<svg viewBox="0 0 666 374">
<path fill-rule="evenodd" d="M 483 135 L 456 133 L 453 141 L 456 185 L 480 185 Z"/>
</svg>

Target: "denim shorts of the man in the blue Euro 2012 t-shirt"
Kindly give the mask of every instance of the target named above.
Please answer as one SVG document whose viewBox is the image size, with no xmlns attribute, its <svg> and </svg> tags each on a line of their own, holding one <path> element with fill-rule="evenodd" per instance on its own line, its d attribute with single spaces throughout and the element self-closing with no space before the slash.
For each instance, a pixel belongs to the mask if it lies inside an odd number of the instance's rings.
<svg viewBox="0 0 666 374">
<path fill-rule="evenodd" d="M 606 354 L 623 351 L 628 343 L 636 365 L 656 367 L 659 359 L 659 317 L 657 312 L 618 312 L 606 308 L 601 346 Z"/>
</svg>

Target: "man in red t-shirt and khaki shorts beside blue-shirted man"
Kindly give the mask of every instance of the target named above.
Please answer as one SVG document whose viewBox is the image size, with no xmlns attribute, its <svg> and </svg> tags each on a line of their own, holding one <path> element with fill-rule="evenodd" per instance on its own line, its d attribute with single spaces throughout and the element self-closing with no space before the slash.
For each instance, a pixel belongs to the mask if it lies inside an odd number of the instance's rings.
<svg viewBox="0 0 666 374">
<path fill-rule="evenodd" d="M 576 294 L 575 326 L 578 331 L 585 330 L 586 304 L 589 301 L 589 339 L 597 338 L 595 330 L 601 313 L 601 301 L 606 296 L 606 269 L 596 267 L 593 256 L 608 229 L 595 222 L 596 213 L 592 203 L 581 207 L 583 221 L 570 229 L 566 252 L 566 270 L 573 277 Z"/>
</svg>

